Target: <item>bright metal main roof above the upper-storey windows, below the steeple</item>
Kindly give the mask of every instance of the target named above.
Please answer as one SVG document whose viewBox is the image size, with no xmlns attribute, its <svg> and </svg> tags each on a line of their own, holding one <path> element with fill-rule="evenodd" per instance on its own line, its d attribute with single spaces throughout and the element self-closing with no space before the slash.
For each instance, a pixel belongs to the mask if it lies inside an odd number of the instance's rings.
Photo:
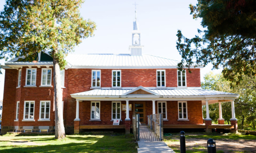
<svg viewBox="0 0 256 153">
<path fill-rule="evenodd" d="M 177 66 L 179 61 L 155 55 L 130 54 L 69 54 L 66 57 L 71 66 L 96 67 L 158 67 Z"/>
</svg>

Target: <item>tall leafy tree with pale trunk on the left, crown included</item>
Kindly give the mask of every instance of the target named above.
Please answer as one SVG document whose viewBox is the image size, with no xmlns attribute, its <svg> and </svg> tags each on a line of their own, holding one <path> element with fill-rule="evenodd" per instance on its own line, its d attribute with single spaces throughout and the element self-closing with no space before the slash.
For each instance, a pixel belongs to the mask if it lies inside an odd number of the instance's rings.
<svg viewBox="0 0 256 153">
<path fill-rule="evenodd" d="M 60 69 L 65 56 L 93 36 L 96 25 L 80 16 L 83 0 L 6 0 L 0 14 L 0 58 L 25 56 L 32 61 L 35 53 L 47 51 L 53 58 L 55 100 L 55 138 L 64 138 L 61 113 Z"/>
</svg>

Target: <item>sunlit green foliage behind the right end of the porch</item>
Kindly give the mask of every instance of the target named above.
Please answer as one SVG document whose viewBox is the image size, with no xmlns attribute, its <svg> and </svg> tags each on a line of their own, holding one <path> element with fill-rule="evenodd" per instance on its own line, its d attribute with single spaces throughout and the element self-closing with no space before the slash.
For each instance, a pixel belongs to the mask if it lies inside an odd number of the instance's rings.
<svg viewBox="0 0 256 153">
<path fill-rule="evenodd" d="M 204 77 L 204 82 L 201 83 L 203 89 L 218 90 L 224 92 L 232 92 L 239 94 L 239 98 L 235 100 L 235 113 L 238 119 L 239 129 L 255 130 L 256 124 L 256 77 L 242 76 L 239 85 L 232 85 L 232 82 L 227 81 L 223 75 L 214 75 L 212 72 Z M 217 123 L 219 118 L 218 103 L 209 105 L 210 118 Z M 205 106 L 203 107 L 204 117 L 206 117 Z M 222 103 L 222 115 L 229 124 L 231 118 L 231 104 Z"/>
</svg>

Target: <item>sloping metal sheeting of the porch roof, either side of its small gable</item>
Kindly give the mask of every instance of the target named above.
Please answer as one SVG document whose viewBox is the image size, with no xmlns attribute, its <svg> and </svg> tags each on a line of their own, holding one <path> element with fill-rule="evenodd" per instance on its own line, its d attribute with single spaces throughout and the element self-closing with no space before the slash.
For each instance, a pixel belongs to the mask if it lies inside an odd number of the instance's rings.
<svg viewBox="0 0 256 153">
<path fill-rule="evenodd" d="M 132 89 L 94 89 L 85 92 L 79 92 L 71 95 L 84 96 L 121 96 Z M 210 96 L 210 95 L 233 95 L 229 92 L 205 90 L 205 89 L 148 89 L 161 96 Z"/>
</svg>

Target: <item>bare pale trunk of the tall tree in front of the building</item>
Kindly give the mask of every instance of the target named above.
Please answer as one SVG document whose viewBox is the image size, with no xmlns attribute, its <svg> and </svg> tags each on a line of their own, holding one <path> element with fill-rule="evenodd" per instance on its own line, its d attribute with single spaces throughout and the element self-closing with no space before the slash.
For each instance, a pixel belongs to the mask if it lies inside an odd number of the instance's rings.
<svg viewBox="0 0 256 153">
<path fill-rule="evenodd" d="M 60 66 L 56 61 L 55 53 L 53 52 L 53 83 L 54 83 L 54 103 L 55 103 L 55 138 L 65 138 L 65 128 L 63 122 L 62 108 L 62 90 L 60 78 Z"/>
</svg>

